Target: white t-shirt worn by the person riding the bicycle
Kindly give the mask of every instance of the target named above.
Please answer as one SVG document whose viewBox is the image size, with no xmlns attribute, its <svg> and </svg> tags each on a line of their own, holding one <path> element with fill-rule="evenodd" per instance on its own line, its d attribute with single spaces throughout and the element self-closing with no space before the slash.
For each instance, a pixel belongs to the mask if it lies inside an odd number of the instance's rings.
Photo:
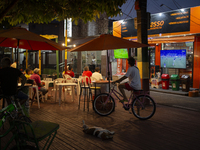
<svg viewBox="0 0 200 150">
<path fill-rule="evenodd" d="M 135 90 L 141 89 L 140 73 L 137 67 L 135 66 L 129 67 L 125 76 L 129 78 L 129 85 L 133 89 Z"/>
</svg>

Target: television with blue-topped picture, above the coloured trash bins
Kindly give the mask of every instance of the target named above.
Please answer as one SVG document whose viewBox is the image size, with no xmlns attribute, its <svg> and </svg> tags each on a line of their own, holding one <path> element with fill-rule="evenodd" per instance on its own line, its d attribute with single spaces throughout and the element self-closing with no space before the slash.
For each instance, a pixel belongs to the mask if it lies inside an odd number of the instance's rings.
<svg viewBox="0 0 200 150">
<path fill-rule="evenodd" d="M 186 50 L 161 50 L 160 66 L 163 68 L 186 68 Z"/>
</svg>

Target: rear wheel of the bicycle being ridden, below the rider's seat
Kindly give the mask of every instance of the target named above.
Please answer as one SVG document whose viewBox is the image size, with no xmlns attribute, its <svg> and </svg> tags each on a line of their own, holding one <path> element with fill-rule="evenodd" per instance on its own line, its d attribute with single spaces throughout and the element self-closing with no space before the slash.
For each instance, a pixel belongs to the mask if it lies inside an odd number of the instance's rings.
<svg viewBox="0 0 200 150">
<path fill-rule="evenodd" d="M 139 95 L 133 100 L 132 112 L 138 119 L 149 119 L 154 115 L 155 111 L 156 104 L 150 96 Z"/>
</svg>

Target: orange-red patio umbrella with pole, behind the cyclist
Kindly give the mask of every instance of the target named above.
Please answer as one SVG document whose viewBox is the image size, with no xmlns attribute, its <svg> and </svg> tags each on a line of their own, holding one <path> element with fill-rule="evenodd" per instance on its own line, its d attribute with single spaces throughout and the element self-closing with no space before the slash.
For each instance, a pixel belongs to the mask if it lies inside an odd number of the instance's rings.
<svg viewBox="0 0 200 150">
<path fill-rule="evenodd" d="M 110 34 L 102 34 L 99 37 L 90 40 L 86 43 L 83 43 L 75 48 L 68 50 L 69 52 L 73 51 L 100 51 L 100 50 L 109 50 L 109 49 L 120 49 L 120 48 L 139 48 L 147 47 L 147 44 L 142 44 L 138 42 L 129 41 L 119 37 L 115 37 Z M 108 56 L 108 51 L 107 51 Z M 109 72 L 109 58 L 108 61 L 108 78 L 110 82 L 110 72 Z"/>
</svg>

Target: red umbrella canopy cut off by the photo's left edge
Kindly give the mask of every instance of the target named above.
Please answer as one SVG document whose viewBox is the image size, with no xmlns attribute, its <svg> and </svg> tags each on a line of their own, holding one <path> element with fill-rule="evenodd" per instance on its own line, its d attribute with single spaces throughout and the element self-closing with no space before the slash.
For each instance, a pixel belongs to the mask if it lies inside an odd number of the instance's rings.
<svg viewBox="0 0 200 150">
<path fill-rule="evenodd" d="M 28 50 L 64 50 L 66 47 L 21 27 L 0 31 L 0 46 Z"/>
</svg>

